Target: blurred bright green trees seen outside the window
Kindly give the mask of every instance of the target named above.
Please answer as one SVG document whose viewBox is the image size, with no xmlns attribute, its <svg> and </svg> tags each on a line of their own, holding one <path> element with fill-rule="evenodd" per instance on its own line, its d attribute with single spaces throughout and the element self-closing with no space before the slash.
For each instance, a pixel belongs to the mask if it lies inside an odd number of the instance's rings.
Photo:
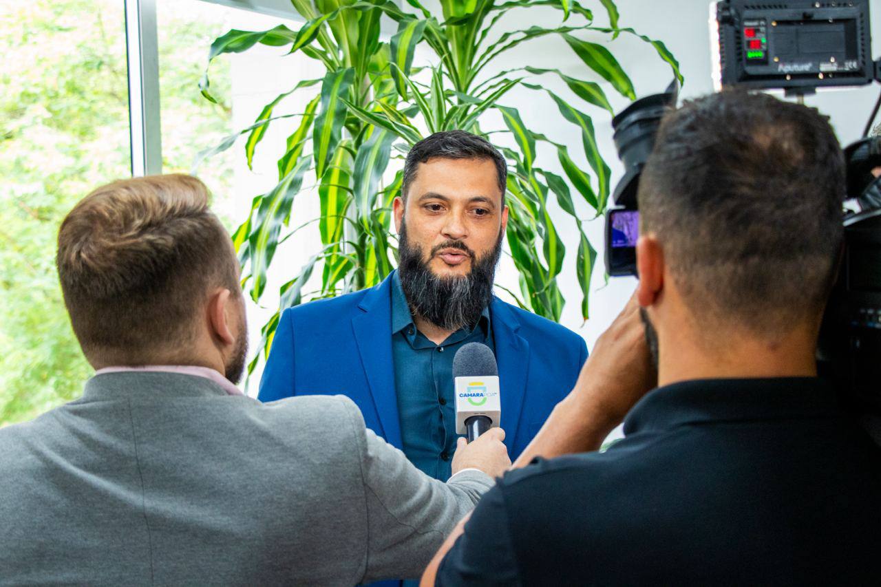
<svg viewBox="0 0 881 587">
<path fill-rule="evenodd" d="M 226 26 L 166 3 L 159 62 L 166 170 L 229 131 L 230 109 L 193 91 L 204 47 Z M 195 3 L 194 3 L 195 4 Z M 64 215 L 102 183 L 130 175 L 122 2 L 36 0 L 0 4 L 0 426 L 29 420 L 78 396 L 92 369 L 64 309 L 55 270 Z M 228 85 L 228 66 L 215 83 Z M 226 93 L 228 95 L 228 93 Z M 219 194 L 231 160 L 206 182 Z"/>
</svg>

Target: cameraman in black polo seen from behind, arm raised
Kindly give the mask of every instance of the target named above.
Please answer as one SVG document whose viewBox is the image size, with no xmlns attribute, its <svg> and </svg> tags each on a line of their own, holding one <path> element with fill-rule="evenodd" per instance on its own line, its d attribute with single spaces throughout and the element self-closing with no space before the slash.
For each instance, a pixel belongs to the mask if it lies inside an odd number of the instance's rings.
<svg viewBox="0 0 881 587">
<path fill-rule="evenodd" d="M 515 465 L 584 454 L 508 472 L 424 584 L 877 583 L 881 449 L 814 359 L 844 186 L 811 108 L 724 92 L 666 115 L 634 299 Z"/>
</svg>

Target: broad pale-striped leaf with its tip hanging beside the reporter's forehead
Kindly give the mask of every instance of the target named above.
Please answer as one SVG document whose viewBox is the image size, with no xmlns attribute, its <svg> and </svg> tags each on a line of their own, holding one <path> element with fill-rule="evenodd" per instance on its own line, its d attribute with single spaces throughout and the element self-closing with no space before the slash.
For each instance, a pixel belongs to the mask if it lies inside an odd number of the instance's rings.
<svg viewBox="0 0 881 587">
<path fill-rule="evenodd" d="M 293 198 L 300 191 L 303 175 L 308 168 L 308 158 L 300 158 L 291 173 L 286 175 L 272 191 L 263 196 L 260 209 L 257 211 L 255 230 L 248 237 L 251 275 L 254 276 L 251 298 L 254 301 L 259 301 L 260 296 L 263 295 L 263 288 L 266 286 L 266 271 L 278 246 L 278 234 L 286 219 L 290 217 Z"/>
</svg>

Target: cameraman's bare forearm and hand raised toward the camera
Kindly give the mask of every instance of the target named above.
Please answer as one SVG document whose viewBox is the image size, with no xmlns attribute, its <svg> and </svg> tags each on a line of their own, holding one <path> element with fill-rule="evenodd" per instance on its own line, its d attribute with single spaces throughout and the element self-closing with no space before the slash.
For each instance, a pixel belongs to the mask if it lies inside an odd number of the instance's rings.
<svg viewBox="0 0 881 587">
<path fill-rule="evenodd" d="M 657 372 L 634 294 L 596 340 L 574 389 L 554 407 L 514 466 L 529 464 L 535 457 L 598 449 L 612 428 L 656 384 Z"/>
</svg>

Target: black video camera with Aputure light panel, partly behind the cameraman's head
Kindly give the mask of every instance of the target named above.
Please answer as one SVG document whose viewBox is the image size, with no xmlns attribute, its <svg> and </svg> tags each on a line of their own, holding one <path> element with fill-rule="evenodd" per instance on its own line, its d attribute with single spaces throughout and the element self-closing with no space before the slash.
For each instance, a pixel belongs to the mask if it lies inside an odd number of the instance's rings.
<svg viewBox="0 0 881 587">
<path fill-rule="evenodd" d="M 818 87 L 881 81 L 881 60 L 870 58 L 869 0 L 760 4 L 723 0 L 713 5 L 717 87 L 782 89 L 788 95 Z M 677 104 L 678 86 L 633 102 L 612 120 L 625 175 L 612 194 L 617 207 L 606 215 L 605 259 L 611 276 L 636 274 L 640 173 L 655 145 L 663 114 Z M 881 97 L 864 135 L 845 149 L 847 197 L 844 250 L 838 280 L 827 304 L 818 345 L 820 375 L 833 377 L 848 398 L 881 410 L 881 136 L 868 137 Z"/>
</svg>

